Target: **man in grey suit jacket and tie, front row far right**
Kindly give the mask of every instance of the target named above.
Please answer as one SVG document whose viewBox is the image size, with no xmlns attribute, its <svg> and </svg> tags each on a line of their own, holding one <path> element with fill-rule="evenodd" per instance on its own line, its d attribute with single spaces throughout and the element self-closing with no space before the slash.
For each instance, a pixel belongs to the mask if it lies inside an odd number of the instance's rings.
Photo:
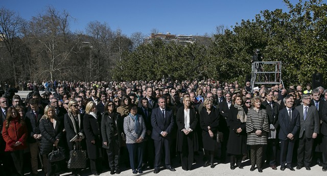
<svg viewBox="0 0 327 176">
<path fill-rule="evenodd" d="M 311 170 L 310 165 L 314 151 L 313 141 L 319 133 L 320 120 L 318 110 L 316 107 L 310 105 L 310 95 L 303 95 L 301 100 L 303 104 L 295 107 L 300 112 L 300 133 L 296 169 L 301 169 L 304 164 L 307 170 Z"/>
</svg>

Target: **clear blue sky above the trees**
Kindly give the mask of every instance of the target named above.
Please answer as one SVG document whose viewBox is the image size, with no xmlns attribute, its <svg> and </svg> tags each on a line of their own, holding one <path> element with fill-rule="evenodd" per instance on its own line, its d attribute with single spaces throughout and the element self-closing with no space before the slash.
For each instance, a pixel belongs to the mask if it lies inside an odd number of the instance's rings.
<svg viewBox="0 0 327 176">
<path fill-rule="evenodd" d="M 290 2 L 296 4 L 298 0 Z M 48 6 L 65 10 L 75 19 L 70 22 L 72 32 L 85 33 L 87 23 L 99 21 L 106 22 L 113 31 L 122 30 L 127 36 L 134 32 L 149 35 L 154 28 L 165 34 L 210 35 L 216 32 L 218 25 L 230 28 L 242 19 L 254 19 L 261 10 L 288 11 L 283 0 L 0 0 L 0 7 L 26 20 L 44 13 Z"/>
</svg>

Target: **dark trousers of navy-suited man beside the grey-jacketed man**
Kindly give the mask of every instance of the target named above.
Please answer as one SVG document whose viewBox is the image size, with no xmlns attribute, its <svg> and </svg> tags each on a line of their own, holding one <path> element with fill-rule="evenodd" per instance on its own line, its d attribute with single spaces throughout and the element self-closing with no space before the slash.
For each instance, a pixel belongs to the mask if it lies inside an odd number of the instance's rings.
<svg viewBox="0 0 327 176">
<path fill-rule="evenodd" d="M 288 167 L 292 167 L 292 157 L 294 149 L 295 140 L 281 140 L 281 166 L 285 167 L 287 164 Z"/>
</svg>

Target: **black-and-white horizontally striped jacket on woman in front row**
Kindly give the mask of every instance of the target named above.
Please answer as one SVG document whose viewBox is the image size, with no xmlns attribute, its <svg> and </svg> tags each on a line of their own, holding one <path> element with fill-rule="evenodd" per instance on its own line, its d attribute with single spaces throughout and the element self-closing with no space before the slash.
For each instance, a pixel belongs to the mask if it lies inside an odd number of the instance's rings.
<svg viewBox="0 0 327 176">
<path fill-rule="evenodd" d="M 261 130 L 260 136 L 255 134 L 256 130 Z M 269 132 L 268 114 L 265 109 L 258 112 L 251 108 L 247 113 L 246 132 L 248 145 L 266 145 L 267 132 Z"/>
</svg>

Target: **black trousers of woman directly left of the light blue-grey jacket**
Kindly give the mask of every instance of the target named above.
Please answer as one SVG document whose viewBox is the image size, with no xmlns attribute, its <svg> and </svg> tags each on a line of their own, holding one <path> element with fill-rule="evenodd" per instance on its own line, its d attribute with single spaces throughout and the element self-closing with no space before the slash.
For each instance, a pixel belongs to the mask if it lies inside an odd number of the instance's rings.
<svg viewBox="0 0 327 176">
<path fill-rule="evenodd" d="M 109 149 L 106 150 L 108 155 L 110 170 L 119 170 L 120 146 L 118 135 L 114 136 L 109 143 Z"/>
</svg>

